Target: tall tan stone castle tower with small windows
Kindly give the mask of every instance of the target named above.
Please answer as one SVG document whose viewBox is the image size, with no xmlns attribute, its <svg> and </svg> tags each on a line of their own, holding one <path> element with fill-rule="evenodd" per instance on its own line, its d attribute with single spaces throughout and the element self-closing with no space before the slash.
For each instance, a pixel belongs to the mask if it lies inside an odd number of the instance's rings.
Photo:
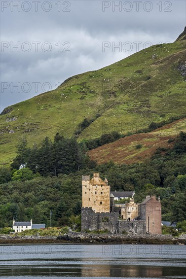
<svg viewBox="0 0 186 279">
<path fill-rule="evenodd" d="M 110 212 L 110 186 L 99 173 L 95 172 L 91 180 L 82 176 L 82 207 L 92 207 L 95 213 Z"/>
</svg>

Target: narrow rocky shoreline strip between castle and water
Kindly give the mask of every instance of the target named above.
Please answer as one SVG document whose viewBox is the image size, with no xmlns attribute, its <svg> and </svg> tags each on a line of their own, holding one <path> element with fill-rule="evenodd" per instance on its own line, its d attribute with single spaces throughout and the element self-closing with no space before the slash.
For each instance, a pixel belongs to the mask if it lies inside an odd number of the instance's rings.
<svg viewBox="0 0 186 279">
<path fill-rule="evenodd" d="M 186 244 L 186 235 L 133 235 L 133 234 L 90 234 L 68 232 L 58 236 L 0 235 L 0 244 L 43 244 L 43 243 L 118 243 L 118 244 Z"/>
</svg>

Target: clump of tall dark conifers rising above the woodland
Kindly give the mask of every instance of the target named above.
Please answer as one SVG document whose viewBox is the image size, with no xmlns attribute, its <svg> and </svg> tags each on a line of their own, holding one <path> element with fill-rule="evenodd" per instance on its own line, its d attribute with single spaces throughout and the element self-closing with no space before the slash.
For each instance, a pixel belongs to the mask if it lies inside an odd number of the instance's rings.
<svg viewBox="0 0 186 279">
<path fill-rule="evenodd" d="M 34 144 L 28 148 L 23 138 L 11 167 L 16 170 L 25 164 L 33 173 L 38 172 L 45 177 L 68 174 L 79 171 L 87 164 L 95 165 L 86 156 L 87 150 L 84 143 L 78 144 L 75 138 L 64 138 L 58 132 L 53 142 L 46 137 L 40 147 Z"/>
</svg>

